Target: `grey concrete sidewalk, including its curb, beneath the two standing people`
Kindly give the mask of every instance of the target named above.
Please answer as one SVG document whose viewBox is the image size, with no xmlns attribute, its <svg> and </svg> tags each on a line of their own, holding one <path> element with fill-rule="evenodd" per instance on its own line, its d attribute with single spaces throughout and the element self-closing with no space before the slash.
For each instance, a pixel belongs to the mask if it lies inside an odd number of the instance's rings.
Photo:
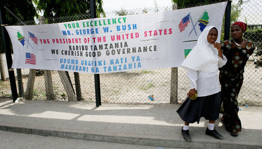
<svg viewBox="0 0 262 149">
<path fill-rule="evenodd" d="M 0 98 L 0 130 L 42 136 L 177 148 L 262 148 L 262 107 L 241 106 L 242 132 L 232 137 L 219 120 L 218 140 L 205 134 L 208 121 L 181 135 L 179 104 L 113 104 Z M 221 118 L 222 115 L 220 115 Z"/>
</svg>

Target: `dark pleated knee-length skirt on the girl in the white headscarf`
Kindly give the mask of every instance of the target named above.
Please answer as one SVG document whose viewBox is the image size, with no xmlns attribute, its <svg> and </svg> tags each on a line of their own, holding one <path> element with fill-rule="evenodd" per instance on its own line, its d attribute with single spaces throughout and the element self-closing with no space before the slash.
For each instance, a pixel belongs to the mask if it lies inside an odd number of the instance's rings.
<svg viewBox="0 0 262 149">
<path fill-rule="evenodd" d="M 220 92 L 205 97 L 197 97 L 195 100 L 187 97 L 177 113 L 183 121 L 188 123 L 197 122 L 199 124 L 201 117 L 215 121 L 219 118 L 221 103 Z"/>
</svg>

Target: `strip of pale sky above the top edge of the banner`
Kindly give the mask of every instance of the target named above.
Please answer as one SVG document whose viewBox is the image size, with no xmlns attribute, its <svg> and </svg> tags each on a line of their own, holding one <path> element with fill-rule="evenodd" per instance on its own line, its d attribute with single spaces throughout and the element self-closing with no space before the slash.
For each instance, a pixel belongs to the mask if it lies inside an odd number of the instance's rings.
<svg viewBox="0 0 262 149">
<path fill-rule="evenodd" d="M 119 11 L 122 8 L 129 9 L 143 9 L 154 8 L 155 3 L 158 7 L 171 7 L 172 0 L 103 0 L 103 9 L 105 12 Z"/>
</svg>

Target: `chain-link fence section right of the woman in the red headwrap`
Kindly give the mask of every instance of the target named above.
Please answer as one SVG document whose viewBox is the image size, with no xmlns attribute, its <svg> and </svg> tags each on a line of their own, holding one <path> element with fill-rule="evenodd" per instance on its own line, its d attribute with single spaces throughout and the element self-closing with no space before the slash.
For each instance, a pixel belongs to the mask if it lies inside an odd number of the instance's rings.
<svg viewBox="0 0 262 149">
<path fill-rule="evenodd" d="M 232 5 L 237 5 L 233 1 Z M 244 33 L 244 38 L 253 41 L 256 49 L 245 66 L 244 82 L 239 93 L 240 103 L 254 103 L 261 105 L 262 101 L 262 2 L 248 1 L 240 8 L 237 21 L 248 24 L 248 29 Z"/>
</svg>

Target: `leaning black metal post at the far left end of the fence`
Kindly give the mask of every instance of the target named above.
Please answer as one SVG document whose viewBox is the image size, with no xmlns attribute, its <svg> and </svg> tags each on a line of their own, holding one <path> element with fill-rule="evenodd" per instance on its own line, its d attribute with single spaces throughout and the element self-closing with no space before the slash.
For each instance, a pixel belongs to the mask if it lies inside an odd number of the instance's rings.
<svg viewBox="0 0 262 149">
<path fill-rule="evenodd" d="M 6 24 L 6 14 L 4 10 L 4 5 L 2 4 L 0 7 L 0 22 L 1 24 Z M 4 48 L 6 52 L 6 59 L 7 59 L 7 67 L 8 67 L 8 74 L 9 74 L 9 80 L 10 80 L 10 86 L 11 86 L 11 92 L 13 97 L 13 102 L 18 98 L 17 89 L 16 89 L 16 82 L 15 82 L 15 73 L 13 70 L 10 70 L 12 67 L 12 54 L 11 54 L 11 47 L 10 47 L 10 41 L 9 36 L 7 33 L 7 30 L 4 29 L 4 26 L 1 27 L 2 35 L 3 35 L 3 41 L 4 41 Z"/>
</svg>

